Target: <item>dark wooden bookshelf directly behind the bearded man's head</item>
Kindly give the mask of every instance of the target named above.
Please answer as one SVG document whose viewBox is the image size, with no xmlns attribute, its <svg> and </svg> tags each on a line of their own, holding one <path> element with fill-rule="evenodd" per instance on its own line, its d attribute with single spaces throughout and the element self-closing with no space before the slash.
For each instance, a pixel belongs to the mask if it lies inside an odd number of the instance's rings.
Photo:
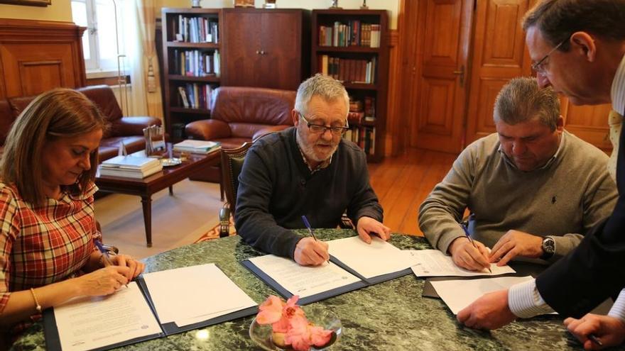
<svg viewBox="0 0 625 351">
<path fill-rule="evenodd" d="M 363 105 L 365 100 L 374 100 L 371 104 L 373 109 L 369 108 L 369 113 L 365 113 L 365 116 L 373 114 L 368 117 L 374 117 L 375 120 L 363 118 L 359 123 L 350 121 L 352 133 L 347 133 L 346 137 L 358 139 L 354 142 L 363 147 L 367 153 L 367 160 L 380 162 L 384 158 L 383 136 L 386 129 L 388 95 L 388 13 L 386 10 L 313 10 L 311 23 L 312 74 L 324 73 L 323 63 L 328 62 L 330 58 L 338 59 L 338 63 L 325 65 L 326 71 L 329 66 L 333 67 L 330 69 L 332 72 L 327 73 L 335 74 L 335 78 L 342 80 L 350 99 L 362 101 Z M 344 27 L 338 28 L 338 24 Z M 379 40 L 374 40 L 374 43 L 379 41 L 379 45 L 371 47 L 367 36 L 363 36 L 369 30 L 363 25 L 376 25 L 373 27 L 375 30 L 379 26 Z M 324 41 L 322 45 L 320 42 L 321 27 L 326 27 L 324 33 L 328 33 L 327 28 L 332 28 L 330 43 Z M 337 35 L 335 38 L 335 33 L 342 33 L 342 36 Z M 324 55 L 327 56 L 326 61 L 323 60 Z M 366 79 L 363 79 L 365 77 L 363 69 L 366 71 L 369 66 L 363 67 L 364 62 L 372 62 L 371 65 L 374 66 L 372 72 L 366 74 Z M 358 138 L 355 138 L 355 134 Z M 367 138 L 369 140 L 366 140 Z"/>
</svg>

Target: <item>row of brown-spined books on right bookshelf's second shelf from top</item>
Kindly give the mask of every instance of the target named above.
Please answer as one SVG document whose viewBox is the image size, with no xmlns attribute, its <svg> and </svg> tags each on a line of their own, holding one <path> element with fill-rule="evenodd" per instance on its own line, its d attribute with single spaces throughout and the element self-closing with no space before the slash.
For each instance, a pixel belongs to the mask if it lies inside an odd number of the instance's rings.
<svg viewBox="0 0 625 351">
<path fill-rule="evenodd" d="M 376 57 L 371 57 L 371 60 L 356 60 L 319 55 L 317 60 L 321 74 L 332 76 L 342 82 L 364 84 L 376 82 Z"/>
</svg>

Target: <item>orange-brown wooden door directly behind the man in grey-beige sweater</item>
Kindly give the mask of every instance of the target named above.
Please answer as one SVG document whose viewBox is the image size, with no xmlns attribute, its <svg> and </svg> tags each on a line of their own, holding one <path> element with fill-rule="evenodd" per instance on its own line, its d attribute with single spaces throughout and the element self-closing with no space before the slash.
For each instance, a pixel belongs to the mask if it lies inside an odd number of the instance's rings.
<svg viewBox="0 0 625 351">
<path fill-rule="evenodd" d="M 531 74 L 521 18 L 534 0 L 477 1 L 466 144 L 494 133 L 494 102 L 511 78 Z"/>
</svg>

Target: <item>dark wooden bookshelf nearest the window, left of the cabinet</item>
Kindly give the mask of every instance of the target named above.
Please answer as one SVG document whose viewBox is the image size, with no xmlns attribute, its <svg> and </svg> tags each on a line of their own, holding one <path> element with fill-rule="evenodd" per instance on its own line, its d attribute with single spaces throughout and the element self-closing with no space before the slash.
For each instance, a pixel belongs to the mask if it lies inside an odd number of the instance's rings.
<svg viewBox="0 0 625 351">
<path fill-rule="evenodd" d="M 221 43 L 223 33 L 222 10 L 164 8 L 162 14 L 163 67 L 161 70 L 163 71 L 165 129 L 172 140 L 178 142 L 185 138 L 184 126 L 186 124 L 210 116 L 210 106 L 208 106 L 210 99 L 207 97 L 207 95 L 210 96 L 210 90 L 204 91 L 202 89 L 206 89 L 204 87 L 214 89 L 219 86 L 221 81 L 220 72 L 223 72 L 224 62 Z M 181 22 L 181 18 L 197 19 L 192 20 L 193 23 L 191 20 L 186 20 L 189 23 L 186 25 L 186 23 Z M 195 21 L 203 22 L 203 24 L 198 25 Z M 216 26 L 216 28 L 204 30 L 204 33 L 200 35 L 198 29 L 205 28 L 206 25 L 209 27 Z M 181 26 L 186 29 L 181 28 Z M 217 35 L 214 34 L 214 29 L 217 30 Z M 209 35 L 204 35 L 207 32 L 211 33 L 210 40 L 207 40 Z M 177 33 L 181 35 L 187 33 L 187 35 L 182 35 L 180 38 L 176 35 Z M 218 67 L 214 67 L 214 58 L 208 58 L 214 57 L 216 52 L 219 53 Z M 192 58 L 195 56 L 202 58 Z M 182 57 L 185 57 L 184 65 Z M 209 66 L 205 63 L 207 60 L 213 60 L 213 64 L 210 65 L 213 68 L 212 72 L 207 72 L 207 66 Z M 204 62 L 204 65 L 201 65 L 202 68 L 198 65 L 200 62 Z M 183 97 L 179 91 L 180 87 L 185 90 L 189 107 L 185 107 L 183 104 Z M 195 104 L 191 106 L 190 99 L 192 96 L 189 96 L 189 93 L 197 93 L 198 96 L 202 96 L 202 99 L 197 99 L 199 103 L 197 106 Z"/>
</svg>

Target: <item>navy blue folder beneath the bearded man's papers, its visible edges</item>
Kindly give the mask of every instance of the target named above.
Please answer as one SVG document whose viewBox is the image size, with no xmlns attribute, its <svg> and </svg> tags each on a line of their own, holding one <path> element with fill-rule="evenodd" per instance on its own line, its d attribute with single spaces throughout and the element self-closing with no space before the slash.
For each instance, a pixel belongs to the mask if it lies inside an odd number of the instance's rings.
<svg viewBox="0 0 625 351">
<path fill-rule="evenodd" d="M 345 294 L 349 291 L 354 291 L 357 289 L 364 288 L 365 286 L 371 286 L 371 285 L 378 284 L 381 282 L 386 282 L 388 280 L 403 277 L 405 275 L 412 273 L 411 269 L 407 268 L 407 269 L 402 269 L 401 271 L 388 273 L 388 274 L 382 274 L 377 277 L 372 277 L 372 278 L 367 279 L 363 277 L 362 275 L 358 274 L 356 271 L 354 271 L 354 269 L 348 267 L 347 264 L 344 264 L 343 262 L 341 262 L 340 260 L 338 260 L 336 257 L 332 255 L 330 255 L 330 262 L 336 264 L 337 266 L 341 267 L 342 269 L 349 272 L 350 274 L 353 274 L 358 279 L 360 279 L 360 282 L 355 282 L 355 283 L 348 284 L 345 286 L 339 286 L 338 288 L 323 291 L 319 294 L 306 296 L 298 300 L 298 305 L 308 305 L 308 303 L 322 301 L 333 296 Z M 276 282 L 274 279 L 269 277 L 268 274 L 263 272 L 259 267 L 256 267 L 256 264 L 252 263 L 250 260 L 243 260 L 241 261 L 241 264 L 247 269 L 249 269 L 250 272 L 254 273 L 256 277 L 259 277 L 259 279 L 265 282 L 265 284 L 270 286 L 271 289 L 275 290 L 278 294 L 280 294 L 280 296 L 282 296 L 284 299 L 290 299 L 290 297 L 293 296 L 293 294 L 291 294 L 290 291 L 285 289 L 284 286 L 278 284 L 278 282 Z"/>
</svg>

